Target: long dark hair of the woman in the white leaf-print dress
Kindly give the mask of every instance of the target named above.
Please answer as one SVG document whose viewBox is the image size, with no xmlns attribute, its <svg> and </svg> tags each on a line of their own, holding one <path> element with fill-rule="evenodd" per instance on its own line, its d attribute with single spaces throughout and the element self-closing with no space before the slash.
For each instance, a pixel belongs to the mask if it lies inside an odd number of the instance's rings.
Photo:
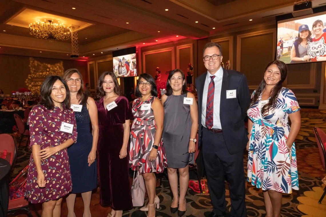
<svg viewBox="0 0 326 217">
<path fill-rule="evenodd" d="M 264 73 L 266 73 L 266 70 L 268 69 L 268 67 L 270 67 L 273 64 L 275 64 L 277 66 L 277 68 L 280 70 L 281 80 L 272 88 L 271 94 L 270 94 L 271 98 L 270 98 L 269 102 L 261 108 L 261 114 L 264 114 L 266 111 L 269 111 L 271 108 L 272 109 L 276 108 L 278 94 L 282 89 L 283 81 L 286 79 L 286 76 L 288 75 L 288 67 L 286 66 L 286 64 L 284 62 L 279 61 L 279 60 L 274 60 L 274 61 L 268 63 Z M 253 106 L 258 101 L 258 98 L 261 95 L 262 91 L 264 90 L 265 86 L 266 86 L 266 82 L 265 82 L 265 79 L 263 78 L 255 92 L 255 95 L 251 98 L 249 107 Z"/>
</svg>

